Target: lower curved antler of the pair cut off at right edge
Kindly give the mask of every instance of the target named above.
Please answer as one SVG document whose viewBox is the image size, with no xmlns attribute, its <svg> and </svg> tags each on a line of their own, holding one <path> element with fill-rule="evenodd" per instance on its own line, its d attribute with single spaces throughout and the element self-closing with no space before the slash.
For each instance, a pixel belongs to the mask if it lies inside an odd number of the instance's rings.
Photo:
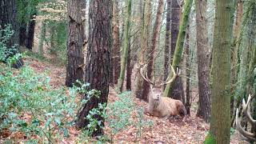
<svg viewBox="0 0 256 144">
<path fill-rule="evenodd" d="M 256 142 L 256 138 L 254 138 L 254 137 L 255 137 L 255 134 L 250 133 L 250 132 L 248 132 L 248 131 L 246 131 L 246 130 L 244 130 L 244 129 L 242 128 L 242 126 L 241 126 L 241 124 L 240 124 L 240 122 L 239 122 L 238 114 L 239 114 L 239 110 L 237 109 L 236 115 L 235 115 L 235 123 L 236 123 L 236 126 L 237 126 L 237 128 L 238 128 L 238 131 L 239 131 L 244 137 L 246 137 L 246 138 L 248 138 L 248 139 L 250 139 L 250 140 Z"/>
</svg>

